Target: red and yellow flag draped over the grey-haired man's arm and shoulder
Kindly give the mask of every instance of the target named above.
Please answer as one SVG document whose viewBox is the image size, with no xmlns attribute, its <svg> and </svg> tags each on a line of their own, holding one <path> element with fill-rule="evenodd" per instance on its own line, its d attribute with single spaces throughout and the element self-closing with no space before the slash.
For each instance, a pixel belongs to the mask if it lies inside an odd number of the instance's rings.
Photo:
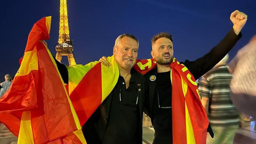
<svg viewBox="0 0 256 144">
<path fill-rule="evenodd" d="M 111 66 L 98 61 L 87 65 L 70 65 L 68 91 L 74 109 L 83 125 L 115 87 L 119 69 L 114 56 L 108 57 Z"/>
</svg>

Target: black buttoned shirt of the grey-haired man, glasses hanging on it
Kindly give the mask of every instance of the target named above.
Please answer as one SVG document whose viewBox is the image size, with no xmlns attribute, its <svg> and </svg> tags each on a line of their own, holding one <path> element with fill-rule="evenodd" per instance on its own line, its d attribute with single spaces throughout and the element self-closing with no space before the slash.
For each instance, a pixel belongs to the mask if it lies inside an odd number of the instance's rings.
<svg viewBox="0 0 256 144">
<path fill-rule="evenodd" d="M 121 87 L 121 103 L 120 103 Z M 129 87 L 126 89 L 125 80 L 119 77 L 115 88 L 109 112 L 109 121 L 102 144 L 137 144 L 139 143 L 139 107 L 137 102 L 134 75 L 131 75 Z"/>
</svg>

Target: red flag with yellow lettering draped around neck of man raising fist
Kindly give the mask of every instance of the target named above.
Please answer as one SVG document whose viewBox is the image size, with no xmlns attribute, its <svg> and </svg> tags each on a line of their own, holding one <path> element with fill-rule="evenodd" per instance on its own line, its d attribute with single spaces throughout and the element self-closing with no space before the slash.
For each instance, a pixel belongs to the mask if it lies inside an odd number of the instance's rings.
<svg viewBox="0 0 256 144">
<path fill-rule="evenodd" d="M 134 68 L 141 74 L 146 74 L 156 66 L 151 58 L 137 60 Z M 175 58 L 170 67 L 173 143 L 205 144 L 209 121 L 199 98 L 197 83 L 188 68 Z"/>
</svg>

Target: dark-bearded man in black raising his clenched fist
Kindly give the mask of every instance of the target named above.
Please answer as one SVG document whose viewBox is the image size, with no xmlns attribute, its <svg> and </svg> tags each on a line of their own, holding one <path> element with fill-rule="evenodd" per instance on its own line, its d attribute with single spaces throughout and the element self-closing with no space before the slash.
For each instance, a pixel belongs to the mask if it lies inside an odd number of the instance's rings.
<svg viewBox="0 0 256 144">
<path fill-rule="evenodd" d="M 180 63 L 189 70 L 194 79 L 198 79 L 221 61 L 241 38 L 240 31 L 246 23 L 247 15 L 235 10 L 231 13 L 230 20 L 234 24 L 233 28 L 208 54 L 195 61 L 186 60 Z M 145 99 L 145 108 L 155 130 L 153 144 L 171 144 L 173 143 L 173 132 L 175 132 L 172 124 L 173 89 L 170 79 L 170 64 L 173 61 L 173 38 L 168 33 L 159 33 L 154 35 L 151 42 L 151 55 L 157 67 L 144 75 L 149 84 L 149 97 Z M 102 57 L 100 61 L 104 65 L 109 65 L 106 57 Z M 184 118 L 180 117 L 180 119 Z"/>
</svg>

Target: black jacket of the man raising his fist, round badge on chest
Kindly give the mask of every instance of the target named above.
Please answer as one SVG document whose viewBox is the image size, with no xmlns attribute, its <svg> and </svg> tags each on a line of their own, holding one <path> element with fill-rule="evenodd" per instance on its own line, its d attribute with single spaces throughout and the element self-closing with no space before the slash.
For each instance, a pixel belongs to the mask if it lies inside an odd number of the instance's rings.
<svg viewBox="0 0 256 144">
<path fill-rule="evenodd" d="M 241 38 L 241 33 L 236 35 L 234 30 L 231 29 L 225 38 L 221 40 L 215 47 L 211 49 L 208 54 L 205 54 L 203 57 L 198 58 L 195 61 L 186 60 L 185 62 L 180 62 L 184 64 L 195 79 L 200 78 L 206 72 L 211 70 L 221 59 L 232 49 L 232 47 L 236 44 L 236 42 Z M 145 98 L 145 109 L 151 118 L 152 124 L 154 123 L 154 110 L 153 110 L 153 99 L 154 99 L 154 90 L 156 87 L 156 81 L 150 81 L 150 76 L 157 75 L 157 67 L 153 70 L 146 73 L 144 76 L 147 79 L 149 85 L 149 97 Z M 211 126 L 208 126 L 207 131 L 213 137 L 213 132 L 211 130 Z"/>
</svg>

